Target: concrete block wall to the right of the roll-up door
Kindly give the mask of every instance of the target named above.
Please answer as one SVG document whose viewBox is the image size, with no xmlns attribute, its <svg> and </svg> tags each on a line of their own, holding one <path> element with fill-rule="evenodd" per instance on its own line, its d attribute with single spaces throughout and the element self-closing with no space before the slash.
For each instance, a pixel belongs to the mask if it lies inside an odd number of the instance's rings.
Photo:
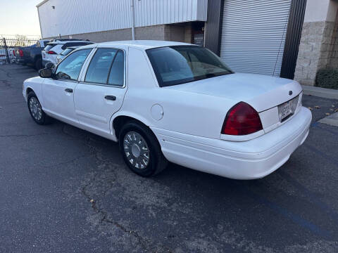
<svg viewBox="0 0 338 253">
<path fill-rule="evenodd" d="M 336 0 L 308 0 L 294 79 L 315 85 L 318 70 L 338 67 Z M 337 53 L 337 54 L 336 54 Z"/>
</svg>

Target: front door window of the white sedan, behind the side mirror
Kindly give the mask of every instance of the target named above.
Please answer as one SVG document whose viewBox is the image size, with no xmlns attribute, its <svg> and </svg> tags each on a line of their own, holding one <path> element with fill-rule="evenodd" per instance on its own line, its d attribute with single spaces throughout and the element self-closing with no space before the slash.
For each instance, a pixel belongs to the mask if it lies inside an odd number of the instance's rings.
<svg viewBox="0 0 338 253">
<path fill-rule="evenodd" d="M 82 49 L 71 53 L 65 58 L 56 69 L 56 77 L 60 79 L 77 80 L 84 60 L 86 60 L 92 48 Z"/>
</svg>

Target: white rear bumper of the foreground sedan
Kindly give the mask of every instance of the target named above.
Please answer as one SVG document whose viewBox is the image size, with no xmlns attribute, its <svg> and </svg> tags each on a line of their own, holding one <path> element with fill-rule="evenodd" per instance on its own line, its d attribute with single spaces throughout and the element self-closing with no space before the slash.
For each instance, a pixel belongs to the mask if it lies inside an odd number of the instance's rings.
<svg viewBox="0 0 338 253">
<path fill-rule="evenodd" d="M 282 166 L 308 136 L 312 115 L 301 108 L 277 129 L 250 141 L 223 141 L 153 128 L 163 155 L 184 167 L 231 179 L 260 179 Z"/>
</svg>

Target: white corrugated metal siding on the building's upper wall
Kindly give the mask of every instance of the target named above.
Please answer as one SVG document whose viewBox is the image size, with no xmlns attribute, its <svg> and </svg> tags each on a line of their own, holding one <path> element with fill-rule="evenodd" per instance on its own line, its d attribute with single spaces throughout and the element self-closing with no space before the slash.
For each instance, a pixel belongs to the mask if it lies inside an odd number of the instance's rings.
<svg viewBox="0 0 338 253">
<path fill-rule="evenodd" d="M 208 0 L 135 0 L 134 3 L 136 27 L 206 21 Z M 42 37 L 130 28 L 130 4 L 130 0 L 46 1 L 38 7 Z"/>
</svg>

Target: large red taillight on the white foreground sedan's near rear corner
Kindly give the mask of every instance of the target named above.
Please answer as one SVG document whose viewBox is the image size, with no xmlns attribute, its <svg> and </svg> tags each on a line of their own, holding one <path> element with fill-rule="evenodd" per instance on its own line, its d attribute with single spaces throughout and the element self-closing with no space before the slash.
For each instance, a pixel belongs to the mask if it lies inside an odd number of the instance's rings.
<svg viewBox="0 0 338 253">
<path fill-rule="evenodd" d="M 258 112 L 247 103 L 239 102 L 227 112 L 221 134 L 242 136 L 262 129 Z"/>
</svg>

